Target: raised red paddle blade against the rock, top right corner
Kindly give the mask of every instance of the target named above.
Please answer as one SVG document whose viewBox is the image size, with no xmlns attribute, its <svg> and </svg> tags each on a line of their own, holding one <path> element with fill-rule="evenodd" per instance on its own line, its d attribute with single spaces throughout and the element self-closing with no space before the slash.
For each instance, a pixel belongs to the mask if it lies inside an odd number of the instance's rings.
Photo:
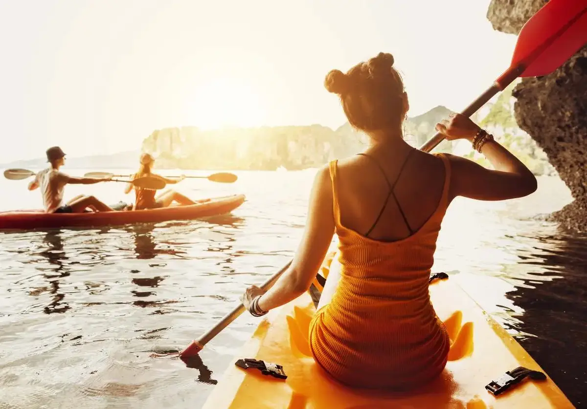
<svg viewBox="0 0 587 409">
<path fill-rule="evenodd" d="M 556 70 L 587 43 L 587 0 L 550 0 L 522 27 L 511 67 L 525 66 L 520 77 Z"/>
</svg>

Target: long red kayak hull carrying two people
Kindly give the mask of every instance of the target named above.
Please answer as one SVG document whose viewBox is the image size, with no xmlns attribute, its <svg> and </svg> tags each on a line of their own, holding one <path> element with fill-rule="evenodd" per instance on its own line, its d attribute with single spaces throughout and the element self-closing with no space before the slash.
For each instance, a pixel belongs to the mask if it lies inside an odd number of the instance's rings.
<svg viewBox="0 0 587 409">
<path fill-rule="evenodd" d="M 134 211 L 43 213 L 38 210 L 16 210 L 0 212 L 0 230 L 122 226 L 123 224 L 159 223 L 168 220 L 192 220 L 230 213 L 241 206 L 244 201 L 244 195 L 232 195 L 198 200 L 195 205 L 190 206 L 170 206 Z"/>
</svg>

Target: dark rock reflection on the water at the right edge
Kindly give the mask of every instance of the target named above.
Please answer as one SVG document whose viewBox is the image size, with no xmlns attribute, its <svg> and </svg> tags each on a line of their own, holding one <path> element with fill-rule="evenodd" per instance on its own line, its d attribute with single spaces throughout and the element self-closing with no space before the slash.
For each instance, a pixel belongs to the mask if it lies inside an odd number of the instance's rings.
<svg viewBox="0 0 587 409">
<path fill-rule="evenodd" d="M 577 407 L 587 406 L 587 234 L 538 236 L 522 254 L 533 277 L 510 297 L 521 340 Z M 548 281 L 544 283 L 544 281 Z"/>
</svg>

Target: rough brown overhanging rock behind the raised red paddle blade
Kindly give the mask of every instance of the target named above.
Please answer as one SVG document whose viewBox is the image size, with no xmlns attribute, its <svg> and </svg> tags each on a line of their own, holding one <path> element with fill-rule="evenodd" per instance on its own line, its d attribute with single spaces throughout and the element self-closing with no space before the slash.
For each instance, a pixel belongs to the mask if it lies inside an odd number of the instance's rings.
<svg viewBox="0 0 587 409">
<path fill-rule="evenodd" d="M 492 0 L 487 18 L 505 33 L 519 33 L 544 0 Z M 574 201 L 553 217 L 572 230 L 587 230 L 587 47 L 554 73 L 522 79 L 512 95 L 515 119 L 544 149 L 571 189 Z"/>
</svg>

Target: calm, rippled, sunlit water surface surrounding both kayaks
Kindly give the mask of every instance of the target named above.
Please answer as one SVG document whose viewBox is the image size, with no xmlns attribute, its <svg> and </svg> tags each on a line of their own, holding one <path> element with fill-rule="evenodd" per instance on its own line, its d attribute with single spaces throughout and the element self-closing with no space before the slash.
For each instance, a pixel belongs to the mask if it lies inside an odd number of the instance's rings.
<svg viewBox="0 0 587 409">
<path fill-rule="evenodd" d="M 246 285 L 288 261 L 313 174 L 240 172 L 233 185 L 185 180 L 178 188 L 194 198 L 247 195 L 231 215 L 205 221 L 0 233 L 0 408 L 200 407 L 258 319 L 241 316 L 188 365 L 149 355 L 187 346 Z M 66 196 L 91 192 L 115 203 L 122 188 L 68 186 Z M 26 181 L 1 180 L 0 189 L 10 192 L 0 210 L 38 207 Z M 570 200 L 558 178 L 541 178 L 524 199 L 457 199 L 434 271 L 465 273 L 460 284 L 581 407 L 587 236 L 541 216 Z"/>
</svg>

